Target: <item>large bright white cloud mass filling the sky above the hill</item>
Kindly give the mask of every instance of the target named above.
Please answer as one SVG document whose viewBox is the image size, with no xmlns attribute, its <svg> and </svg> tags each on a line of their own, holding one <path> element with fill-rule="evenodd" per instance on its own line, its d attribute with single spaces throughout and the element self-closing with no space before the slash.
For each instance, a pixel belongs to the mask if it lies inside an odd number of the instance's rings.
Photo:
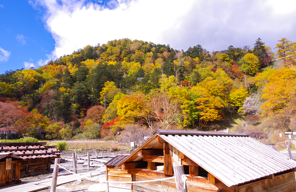
<svg viewBox="0 0 296 192">
<path fill-rule="evenodd" d="M 122 0 L 109 2 L 113 10 L 84 0 L 30 1 L 45 8 L 44 22 L 52 33 L 52 57 L 108 40 L 131 38 L 170 44 L 186 50 L 200 44 L 209 51 L 252 45 L 260 37 L 274 47 L 286 37 L 295 41 L 295 2 L 287 12 L 278 1 Z"/>
</svg>

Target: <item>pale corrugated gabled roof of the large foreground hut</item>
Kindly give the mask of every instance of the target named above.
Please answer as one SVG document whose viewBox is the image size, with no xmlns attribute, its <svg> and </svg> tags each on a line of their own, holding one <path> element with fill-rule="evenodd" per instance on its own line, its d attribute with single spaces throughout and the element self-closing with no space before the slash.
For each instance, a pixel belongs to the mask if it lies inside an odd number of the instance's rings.
<svg viewBox="0 0 296 192">
<path fill-rule="evenodd" d="M 229 187 L 296 167 L 294 160 L 247 134 L 174 130 L 155 130 L 122 163 L 139 161 L 137 152 L 152 147 L 157 135 Z"/>
</svg>

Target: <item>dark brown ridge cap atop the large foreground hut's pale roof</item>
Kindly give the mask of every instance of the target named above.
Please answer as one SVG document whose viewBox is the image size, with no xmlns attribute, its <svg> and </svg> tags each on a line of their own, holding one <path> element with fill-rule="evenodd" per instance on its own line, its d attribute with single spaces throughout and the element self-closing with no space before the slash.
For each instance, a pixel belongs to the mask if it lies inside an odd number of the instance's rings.
<svg viewBox="0 0 296 192">
<path fill-rule="evenodd" d="M 248 137 L 248 134 L 244 133 L 224 133 L 224 132 L 211 132 L 211 131 L 181 131 L 181 130 L 165 130 L 156 129 L 152 133 L 153 135 L 212 135 L 212 136 L 243 136 Z"/>
</svg>

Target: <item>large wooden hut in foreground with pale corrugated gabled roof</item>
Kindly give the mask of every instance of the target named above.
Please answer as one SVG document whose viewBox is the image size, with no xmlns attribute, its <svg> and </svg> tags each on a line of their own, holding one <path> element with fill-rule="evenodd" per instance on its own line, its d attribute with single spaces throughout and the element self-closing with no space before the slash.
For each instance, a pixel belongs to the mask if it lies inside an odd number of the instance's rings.
<svg viewBox="0 0 296 192">
<path fill-rule="evenodd" d="M 114 168 L 107 164 L 107 179 L 117 181 L 168 178 L 173 165 L 184 165 L 189 192 L 296 191 L 296 162 L 247 134 L 155 130 Z M 110 192 L 176 191 L 175 179 L 107 187 Z"/>
</svg>

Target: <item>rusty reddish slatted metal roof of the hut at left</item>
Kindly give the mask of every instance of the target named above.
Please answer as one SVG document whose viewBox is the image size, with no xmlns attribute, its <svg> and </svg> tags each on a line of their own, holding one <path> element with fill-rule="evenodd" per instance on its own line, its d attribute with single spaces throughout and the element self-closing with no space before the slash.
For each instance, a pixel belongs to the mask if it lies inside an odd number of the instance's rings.
<svg viewBox="0 0 296 192">
<path fill-rule="evenodd" d="M 29 144 L 29 145 L 26 145 Z M 34 145 L 35 144 L 35 145 Z M 11 152 L 13 155 L 22 157 L 22 159 L 35 159 L 45 157 L 57 157 L 57 154 L 64 154 L 55 149 L 57 146 L 43 146 L 42 143 L 0 143 L 0 154 Z"/>
</svg>

